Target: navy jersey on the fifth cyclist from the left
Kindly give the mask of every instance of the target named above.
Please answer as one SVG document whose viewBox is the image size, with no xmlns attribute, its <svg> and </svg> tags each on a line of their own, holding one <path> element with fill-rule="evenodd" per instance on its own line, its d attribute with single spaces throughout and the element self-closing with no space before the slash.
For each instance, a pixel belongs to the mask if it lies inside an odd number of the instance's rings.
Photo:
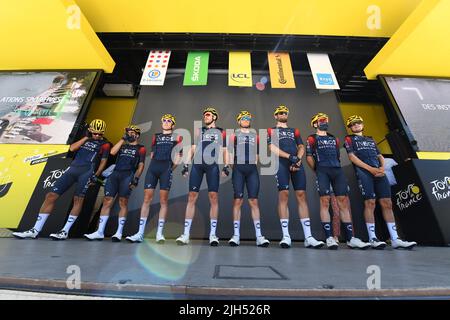
<svg viewBox="0 0 450 320">
<path fill-rule="evenodd" d="M 230 136 L 230 146 L 233 148 L 234 164 L 255 164 L 259 155 L 259 135 L 255 130 L 242 132 L 237 129 Z"/>
</svg>

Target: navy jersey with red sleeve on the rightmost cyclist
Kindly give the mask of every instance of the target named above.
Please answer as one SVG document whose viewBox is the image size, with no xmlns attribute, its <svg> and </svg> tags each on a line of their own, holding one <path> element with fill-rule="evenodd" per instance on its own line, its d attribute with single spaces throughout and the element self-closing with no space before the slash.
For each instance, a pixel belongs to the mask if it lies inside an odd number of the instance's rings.
<svg viewBox="0 0 450 320">
<path fill-rule="evenodd" d="M 344 143 L 347 153 L 353 153 L 362 162 L 368 164 L 371 167 L 379 168 L 381 166 L 378 155 L 380 151 L 377 148 L 377 144 L 372 137 L 348 135 L 345 137 Z"/>
</svg>

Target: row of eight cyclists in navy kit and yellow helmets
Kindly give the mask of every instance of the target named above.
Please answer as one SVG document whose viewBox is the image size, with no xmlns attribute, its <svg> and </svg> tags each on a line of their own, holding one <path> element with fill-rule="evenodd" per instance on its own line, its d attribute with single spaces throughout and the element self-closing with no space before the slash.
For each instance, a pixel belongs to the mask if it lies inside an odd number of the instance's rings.
<svg viewBox="0 0 450 320">
<path fill-rule="evenodd" d="M 275 174 L 278 186 L 278 214 L 283 237 L 279 243 L 282 248 L 290 248 L 291 237 L 289 225 L 289 184 L 292 183 L 295 198 L 298 203 L 298 215 L 305 236 L 304 245 L 307 248 L 321 248 L 325 244 L 328 249 L 337 249 L 338 242 L 332 236 L 330 223 L 330 197 L 336 196 L 339 216 L 345 230 L 346 244 L 355 249 L 384 249 L 386 242 L 380 241 L 375 233 L 374 210 L 376 200 L 379 200 L 383 218 L 387 224 L 393 248 L 411 249 L 416 242 L 404 241 L 399 238 L 392 212 L 390 184 L 384 173 L 384 158 L 380 154 L 372 137 L 363 135 L 363 119 L 358 115 L 349 117 L 346 125 L 352 131 L 344 140 L 348 157 L 353 163 L 355 173 L 364 197 L 364 218 L 366 221 L 369 242 L 364 242 L 353 235 L 352 218 L 350 214 L 348 193 L 349 186 L 340 163 L 340 141 L 328 132 L 329 117 L 317 113 L 311 119 L 315 133 L 306 139 L 306 146 L 296 128 L 289 127 L 289 109 L 278 106 L 273 116 L 276 125 L 267 129 L 267 143 L 271 153 L 278 160 Z M 203 110 L 204 126 L 195 133 L 194 143 L 183 155 L 182 137 L 174 133 L 176 119 L 171 114 L 161 118 L 161 132 L 154 134 L 151 144 L 150 165 L 144 182 L 144 200 L 140 212 L 139 230 L 136 234 L 126 237 L 130 242 L 142 242 L 144 230 L 149 215 L 150 205 L 155 188 L 160 187 L 160 211 L 156 241 L 164 243 L 164 224 L 168 214 L 169 191 L 172 184 L 172 174 L 183 162 L 181 174 L 189 176 L 189 194 L 185 211 L 184 232 L 176 239 L 177 244 L 186 245 L 190 241 L 192 219 L 195 215 L 195 205 L 198 200 L 203 177 L 206 176 L 208 197 L 210 202 L 210 234 L 211 246 L 219 244 L 216 236 L 219 214 L 218 191 L 220 176 L 232 174 L 234 189 L 233 202 L 233 236 L 228 241 L 231 246 L 240 244 L 240 217 L 247 190 L 251 216 L 254 222 L 256 245 L 269 246 L 269 241 L 262 235 L 258 195 L 260 175 L 257 163 L 259 158 L 259 135 L 251 128 L 253 115 L 241 111 L 237 117 L 239 128 L 228 135 L 222 128 L 216 126 L 219 114 L 213 107 Z M 111 208 L 116 196 L 119 198 L 119 218 L 113 241 L 121 241 L 123 227 L 126 221 L 128 198 L 139 184 L 144 171 L 146 148 L 139 143 L 141 130 L 136 125 L 125 129 L 123 137 L 112 148 L 103 135 L 106 123 L 103 120 L 93 120 L 85 137 L 73 143 L 70 151 L 76 151 L 75 157 L 65 173 L 58 179 L 52 190 L 47 193 L 33 228 L 24 232 L 14 232 L 16 238 L 37 238 L 48 216 L 52 213 L 56 200 L 73 184 L 77 184 L 74 195 L 74 205 L 63 229 L 51 234 L 54 240 L 65 240 L 69 230 L 76 221 L 83 206 L 84 196 L 89 186 L 97 183 L 106 167 L 108 157 L 117 155 L 114 170 L 106 180 L 105 197 L 100 212 L 98 229 L 85 234 L 88 240 L 103 240 L 104 230 L 108 222 Z M 316 174 L 317 190 L 320 196 L 320 219 L 326 235 L 325 242 L 316 240 L 311 233 L 310 214 L 306 198 L 306 176 L 303 157 L 306 154 L 308 166 Z M 220 157 L 224 166 L 219 169 Z M 190 172 L 189 172 L 190 171 Z"/>
</svg>

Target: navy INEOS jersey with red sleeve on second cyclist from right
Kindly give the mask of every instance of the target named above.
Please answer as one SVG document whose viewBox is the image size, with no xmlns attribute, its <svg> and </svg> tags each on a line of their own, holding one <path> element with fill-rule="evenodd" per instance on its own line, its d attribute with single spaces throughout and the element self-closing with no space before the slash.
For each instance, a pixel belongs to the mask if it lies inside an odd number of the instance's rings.
<svg viewBox="0 0 450 320">
<path fill-rule="evenodd" d="M 339 139 L 332 134 L 312 134 L 306 142 L 306 155 L 314 157 L 318 167 L 341 167 Z"/>
</svg>

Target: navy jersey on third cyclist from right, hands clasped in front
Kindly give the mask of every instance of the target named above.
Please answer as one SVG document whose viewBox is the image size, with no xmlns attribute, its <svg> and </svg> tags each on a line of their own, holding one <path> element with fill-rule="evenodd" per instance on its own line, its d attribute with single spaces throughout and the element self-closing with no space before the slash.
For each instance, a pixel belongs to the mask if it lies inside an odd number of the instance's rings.
<svg viewBox="0 0 450 320">
<path fill-rule="evenodd" d="M 267 129 L 267 144 L 274 144 L 281 151 L 296 156 L 298 146 L 303 144 L 297 128 L 272 127 Z"/>
</svg>

